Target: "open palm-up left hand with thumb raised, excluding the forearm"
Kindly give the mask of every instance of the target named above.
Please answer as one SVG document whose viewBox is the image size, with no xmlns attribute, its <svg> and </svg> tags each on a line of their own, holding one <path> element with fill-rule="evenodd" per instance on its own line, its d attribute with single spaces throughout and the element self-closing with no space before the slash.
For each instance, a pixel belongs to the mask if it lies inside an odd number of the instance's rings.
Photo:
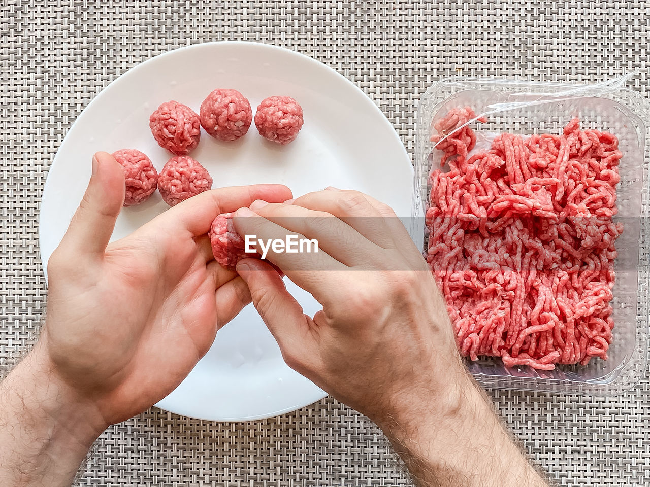
<svg viewBox="0 0 650 487">
<path fill-rule="evenodd" d="M 274 184 L 205 192 L 109 244 L 124 178 L 112 156 L 98 153 L 81 206 L 49 259 L 35 358 L 103 427 L 155 404 L 250 301 L 237 273 L 214 261 L 206 235 L 214 217 L 255 199 L 289 198 L 289 188 Z"/>
</svg>

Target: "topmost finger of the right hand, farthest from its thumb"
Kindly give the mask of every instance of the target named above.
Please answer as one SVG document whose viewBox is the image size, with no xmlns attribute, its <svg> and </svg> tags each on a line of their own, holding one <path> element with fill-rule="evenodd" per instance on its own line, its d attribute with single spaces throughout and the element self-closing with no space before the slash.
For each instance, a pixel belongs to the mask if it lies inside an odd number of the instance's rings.
<svg viewBox="0 0 650 487">
<path fill-rule="evenodd" d="M 387 225 L 387 219 L 363 193 L 341 190 L 318 191 L 300 196 L 291 204 L 333 214 L 370 242 L 384 249 L 396 247 L 393 231 Z"/>
</svg>

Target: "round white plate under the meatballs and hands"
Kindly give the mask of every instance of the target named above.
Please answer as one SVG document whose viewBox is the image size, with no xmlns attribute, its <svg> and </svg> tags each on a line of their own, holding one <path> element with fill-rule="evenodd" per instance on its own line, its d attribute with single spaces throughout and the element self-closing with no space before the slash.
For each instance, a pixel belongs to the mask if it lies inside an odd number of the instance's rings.
<svg viewBox="0 0 650 487">
<path fill-rule="evenodd" d="M 278 182 L 294 195 L 331 185 L 354 188 L 385 201 L 399 216 L 411 214 L 413 169 L 391 123 L 352 82 L 294 51 L 248 42 L 213 42 L 156 56 L 120 76 L 85 108 L 62 142 L 40 212 L 43 266 L 59 244 L 90 177 L 96 151 L 140 149 L 157 169 L 170 157 L 149 131 L 149 114 L 175 99 L 198 112 L 214 88 L 235 88 L 253 109 L 270 95 L 291 95 L 305 124 L 287 146 L 263 140 L 255 127 L 238 142 L 201 133 L 192 153 L 214 179 L 214 188 Z M 167 209 L 158 193 L 118 218 L 113 240 Z M 314 314 L 318 303 L 287 283 Z M 174 343 L 169 344 L 174 353 Z M 158 406 L 194 418 L 239 421 L 269 418 L 326 394 L 289 369 L 278 345 L 252 306 L 218 332 L 210 351 Z"/>
</svg>

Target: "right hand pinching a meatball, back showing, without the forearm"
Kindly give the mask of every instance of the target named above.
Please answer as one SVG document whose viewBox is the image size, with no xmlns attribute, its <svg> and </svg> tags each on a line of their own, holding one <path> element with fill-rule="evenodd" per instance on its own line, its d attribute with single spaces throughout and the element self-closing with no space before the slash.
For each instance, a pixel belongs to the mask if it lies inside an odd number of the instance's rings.
<svg viewBox="0 0 650 487">
<path fill-rule="evenodd" d="M 457 406 L 468 379 L 445 302 L 391 208 L 328 188 L 289 204 L 256 201 L 234 223 L 264 240 L 318 241 L 318 253 L 267 256 L 323 306 L 313 318 L 268 263 L 237 266 L 287 365 L 382 427 L 408 428 L 432 397 L 441 410 Z"/>
</svg>

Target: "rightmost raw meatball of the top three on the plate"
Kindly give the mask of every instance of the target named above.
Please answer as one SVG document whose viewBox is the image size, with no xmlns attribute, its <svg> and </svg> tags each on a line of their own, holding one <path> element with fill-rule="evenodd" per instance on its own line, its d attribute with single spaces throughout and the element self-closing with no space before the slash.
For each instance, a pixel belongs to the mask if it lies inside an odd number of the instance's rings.
<svg viewBox="0 0 650 487">
<path fill-rule="evenodd" d="M 296 140 L 302 124 L 302 107 L 290 96 L 265 98 L 255 113 L 259 134 L 282 145 Z"/>
</svg>

